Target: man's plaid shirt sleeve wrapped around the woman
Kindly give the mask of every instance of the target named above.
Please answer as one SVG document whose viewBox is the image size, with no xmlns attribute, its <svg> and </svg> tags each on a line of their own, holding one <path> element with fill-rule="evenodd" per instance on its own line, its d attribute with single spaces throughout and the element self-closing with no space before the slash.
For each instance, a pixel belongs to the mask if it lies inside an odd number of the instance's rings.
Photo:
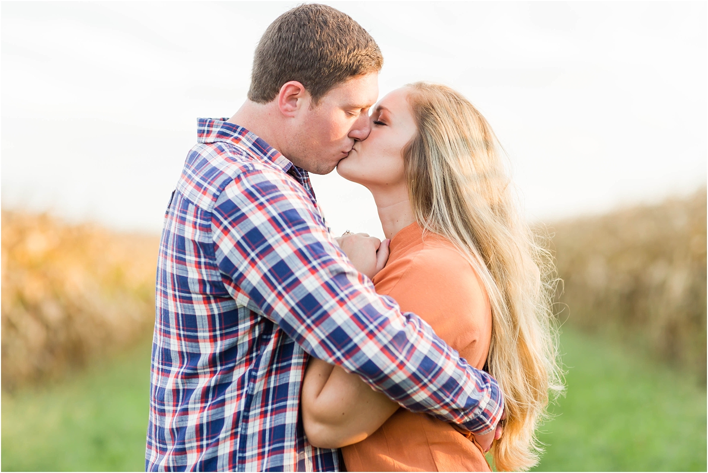
<svg viewBox="0 0 708 473">
<path fill-rule="evenodd" d="M 304 188 L 276 170 L 244 171 L 215 202 L 215 256 L 238 303 L 309 354 L 357 373 L 411 411 L 488 433 L 502 411 L 493 378 L 460 358 L 351 265 Z"/>
</svg>

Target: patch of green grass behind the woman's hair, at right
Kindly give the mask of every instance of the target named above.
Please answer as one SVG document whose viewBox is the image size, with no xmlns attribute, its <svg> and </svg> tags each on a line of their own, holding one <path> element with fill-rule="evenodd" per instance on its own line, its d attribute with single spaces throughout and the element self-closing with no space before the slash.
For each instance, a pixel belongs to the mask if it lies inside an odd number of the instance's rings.
<svg viewBox="0 0 708 473">
<path fill-rule="evenodd" d="M 706 390 L 615 343 L 566 330 L 566 397 L 535 471 L 706 471 Z"/>
</svg>

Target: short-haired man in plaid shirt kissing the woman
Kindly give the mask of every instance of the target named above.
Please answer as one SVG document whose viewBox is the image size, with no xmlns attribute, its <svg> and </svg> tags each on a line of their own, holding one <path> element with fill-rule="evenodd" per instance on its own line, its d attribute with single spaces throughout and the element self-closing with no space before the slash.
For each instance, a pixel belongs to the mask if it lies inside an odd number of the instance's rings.
<svg viewBox="0 0 708 473">
<path fill-rule="evenodd" d="M 200 119 L 160 246 L 148 470 L 341 469 L 299 421 L 308 354 L 493 436 L 496 382 L 377 296 L 310 186 L 308 171 L 331 172 L 367 137 L 382 62 L 349 16 L 299 6 L 258 43 L 249 100 L 228 121 Z M 375 239 L 348 245 L 360 267 L 387 257 Z"/>
</svg>

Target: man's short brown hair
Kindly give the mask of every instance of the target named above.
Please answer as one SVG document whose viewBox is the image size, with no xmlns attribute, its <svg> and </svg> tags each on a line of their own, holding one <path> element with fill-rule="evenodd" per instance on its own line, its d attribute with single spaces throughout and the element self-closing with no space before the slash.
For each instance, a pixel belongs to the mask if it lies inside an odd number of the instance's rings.
<svg viewBox="0 0 708 473">
<path fill-rule="evenodd" d="M 317 103 L 339 83 L 378 72 L 383 64 L 374 38 L 346 13 L 300 5 L 270 23 L 258 42 L 249 100 L 268 103 L 282 84 L 298 81 Z"/>
</svg>

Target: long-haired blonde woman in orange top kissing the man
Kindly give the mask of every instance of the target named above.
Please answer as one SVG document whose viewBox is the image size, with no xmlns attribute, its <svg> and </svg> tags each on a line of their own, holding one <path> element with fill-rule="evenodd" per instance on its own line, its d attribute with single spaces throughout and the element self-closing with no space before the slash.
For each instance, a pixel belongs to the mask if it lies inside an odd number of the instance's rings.
<svg viewBox="0 0 708 473">
<path fill-rule="evenodd" d="M 372 131 L 338 173 L 372 192 L 390 242 L 377 292 L 435 332 L 505 397 L 497 469 L 529 469 L 549 394 L 562 389 L 556 363 L 546 250 L 520 216 L 496 137 L 462 95 L 414 83 L 372 112 Z M 342 448 L 355 471 L 489 471 L 464 429 L 399 409 L 357 375 L 312 358 L 302 388 L 309 441 Z"/>
</svg>

